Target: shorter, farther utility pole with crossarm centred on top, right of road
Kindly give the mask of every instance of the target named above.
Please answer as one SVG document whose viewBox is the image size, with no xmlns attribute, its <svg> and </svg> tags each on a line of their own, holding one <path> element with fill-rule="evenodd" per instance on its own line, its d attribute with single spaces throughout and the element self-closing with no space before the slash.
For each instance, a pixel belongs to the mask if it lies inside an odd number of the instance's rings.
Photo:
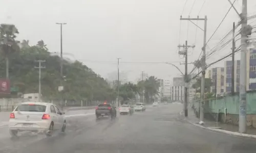
<svg viewBox="0 0 256 153">
<path fill-rule="evenodd" d="M 181 45 L 178 45 L 178 47 L 183 47 L 184 50 L 182 51 L 179 51 L 179 54 L 180 55 L 184 55 L 185 56 L 185 75 L 184 75 L 184 81 L 185 81 L 185 97 L 184 97 L 184 114 L 185 114 L 185 117 L 187 117 L 187 98 L 188 98 L 188 93 L 187 93 L 187 88 L 188 88 L 188 76 L 187 76 L 187 48 L 188 47 L 195 47 L 195 45 L 193 46 L 190 46 L 190 45 L 187 45 L 187 41 L 185 43 L 185 45 L 181 46 Z"/>
</svg>

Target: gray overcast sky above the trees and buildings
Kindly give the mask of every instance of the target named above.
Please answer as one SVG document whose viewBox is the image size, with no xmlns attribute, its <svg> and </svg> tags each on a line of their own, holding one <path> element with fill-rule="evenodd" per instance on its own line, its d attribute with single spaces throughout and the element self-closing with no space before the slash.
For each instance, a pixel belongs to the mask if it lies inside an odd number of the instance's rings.
<svg viewBox="0 0 256 153">
<path fill-rule="evenodd" d="M 204 0 L 196 0 L 191 9 L 193 3 L 194 0 L 187 0 L 183 17 L 189 14 L 196 17 Z M 180 21 L 184 4 L 185 0 L 0 0 L 0 23 L 15 24 L 20 32 L 18 39 L 30 40 L 30 45 L 42 39 L 50 52 L 59 52 L 60 29 L 55 23 L 67 22 L 63 26 L 63 52 L 72 53 L 75 59 L 105 78 L 116 71 L 117 65 L 113 62 L 117 57 L 122 58 L 120 62 L 184 61 L 177 54 L 177 45 L 185 40 L 196 45 L 194 50 L 190 49 L 188 57 L 189 62 L 195 61 L 203 45 L 203 32 L 196 30 L 192 23 Z M 241 12 L 242 0 L 237 0 L 234 6 Z M 256 13 L 253 11 L 255 6 L 255 0 L 248 0 L 248 16 Z M 207 40 L 229 7 L 227 0 L 205 1 L 199 17 L 207 15 Z M 232 22 L 238 20 L 238 15 L 231 9 L 209 41 L 207 51 L 231 30 Z M 203 21 L 198 21 L 198 25 L 203 28 Z M 230 51 L 227 47 L 207 63 Z M 184 70 L 184 65 L 174 64 Z M 215 66 L 223 66 L 223 62 Z M 190 65 L 189 69 L 192 67 Z M 120 63 L 120 71 L 127 72 L 129 80 L 139 78 L 142 70 L 163 79 L 180 75 L 175 67 L 167 64 Z"/>
</svg>

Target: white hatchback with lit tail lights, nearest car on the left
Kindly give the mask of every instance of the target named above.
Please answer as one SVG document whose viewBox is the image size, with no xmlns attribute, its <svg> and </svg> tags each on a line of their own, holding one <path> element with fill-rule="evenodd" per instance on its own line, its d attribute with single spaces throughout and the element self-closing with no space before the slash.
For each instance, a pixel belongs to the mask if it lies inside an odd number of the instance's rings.
<svg viewBox="0 0 256 153">
<path fill-rule="evenodd" d="M 66 130 L 64 112 L 51 103 L 25 102 L 19 104 L 10 114 L 9 131 L 17 136 L 19 131 L 45 132 L 51 136 L 53 131 Z"/>
</svg>

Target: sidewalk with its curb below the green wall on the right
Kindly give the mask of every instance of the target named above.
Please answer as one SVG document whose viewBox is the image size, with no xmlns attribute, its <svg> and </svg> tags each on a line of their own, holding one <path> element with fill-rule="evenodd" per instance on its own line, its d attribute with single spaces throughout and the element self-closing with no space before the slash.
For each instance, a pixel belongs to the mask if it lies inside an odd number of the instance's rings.
<svg viewBox="0 0 256 153">
<path fill-rule="evenodd" d="M 221 122 L 216 121 L 209 121 L 204 120 L 204 124 L 199 124 L 199 119 L 196 117 L 194 110 L 189 108 L 188 109 L 188 117 L 186 118 L 188 122 L 191 124 L 197 125 L 199 127 L 202 127 L 204 129 L 208 129 L 211 131 L 217 131 L 222 132 L 230 135 L 236 135 L 236 136 L 245 136 L 245 137 L 253 137 L 256 138 L 256 129 L 253 127 L 246 127 L 246 134 L 241 134 L 238 132 L 239 127 L 237 125 L 233 124 L 225 124 Z"/>
</svg>

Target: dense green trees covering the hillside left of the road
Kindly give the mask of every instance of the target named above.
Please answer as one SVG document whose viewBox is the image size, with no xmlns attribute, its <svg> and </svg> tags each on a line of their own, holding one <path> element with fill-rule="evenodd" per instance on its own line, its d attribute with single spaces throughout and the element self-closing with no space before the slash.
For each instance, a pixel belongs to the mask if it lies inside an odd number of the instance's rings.
<svg viewBox="0 0 256 153">
<path fill-rule="evenodd" d="M 2 97 L 18 97 L 24 93 L 38 93 L 38 62 L 42 62 L 41 94 L 48 100 L 108 100 L 117 97 L 117 86 L 113 88 L 96 74 L 92 69 L 79 61 L 63 60 L 63 77 L 60 75 L 60 58 L 53 56 L 44 41 L 36 45 L 29 45 L 28 40 L 16 41 L 18 34 L 15 25 L 0 25 L 0 78 L 9 78 L 11 94 L 0 94 Z M 58 86 L 64 90 L 59 92 Z M 119 99 L 121 101 L 136 99 L 142 96 L 144 90 L 145 101 L 152 101 L 158 94 L 160 84 L 154 76 L 140 81 L 137 85 L 125 83 L 119 85 Z M 16 90 L 13 90 L 16 89 Z"/>
</svg>

